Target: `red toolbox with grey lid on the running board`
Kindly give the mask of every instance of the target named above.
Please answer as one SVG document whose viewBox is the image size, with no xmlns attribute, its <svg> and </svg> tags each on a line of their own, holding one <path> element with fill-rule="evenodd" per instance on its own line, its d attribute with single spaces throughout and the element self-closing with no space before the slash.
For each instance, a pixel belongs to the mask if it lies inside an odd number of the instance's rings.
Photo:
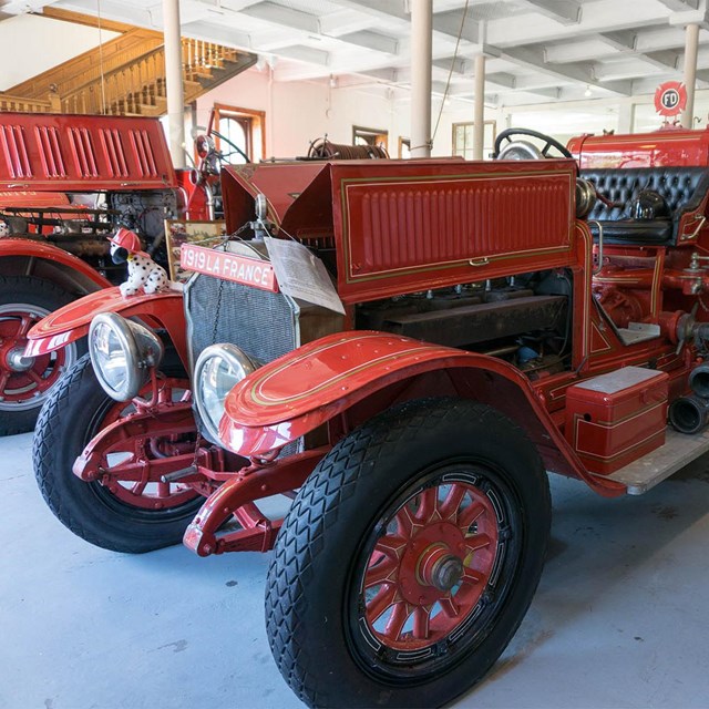
<svg viewBox="0 0 709 709">
<path fill-rule="evenodd" d="M 566 440 L 589 471 L 608 475 L 664 445 L 667 380 L 625 367 L 566 390 Z"/>
</svg>

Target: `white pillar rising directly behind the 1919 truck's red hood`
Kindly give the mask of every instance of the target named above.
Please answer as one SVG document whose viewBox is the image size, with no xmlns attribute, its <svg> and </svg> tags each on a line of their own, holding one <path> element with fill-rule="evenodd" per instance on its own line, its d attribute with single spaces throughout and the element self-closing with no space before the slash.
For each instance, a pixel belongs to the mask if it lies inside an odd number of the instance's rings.
<svg viewBox="0 0 709 709">
<path fill-rule="evenodd" d="M 411 157 L 431 155 L 433 0 L 411 1 Z"/>
</svg>

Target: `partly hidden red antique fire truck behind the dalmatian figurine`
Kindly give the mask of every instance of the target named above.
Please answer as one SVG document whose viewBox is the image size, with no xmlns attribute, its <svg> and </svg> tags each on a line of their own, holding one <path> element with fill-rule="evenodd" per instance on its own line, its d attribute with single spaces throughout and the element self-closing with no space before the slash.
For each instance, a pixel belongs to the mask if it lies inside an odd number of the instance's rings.
<svg viewBox="0 0 709 709">
<path fill-rule="evenodd" d="M 195 143 L 196 168 L 175 172 L 156 119 L 0 113 L 0 435 L 31 430 L 85 352 L 23 356 L 32 325 L 123 280 L 106 236 L 130 227 L 166 265 L 165 218 L 219 216 L 224 156 L 209 132 Z"/>
</svg>

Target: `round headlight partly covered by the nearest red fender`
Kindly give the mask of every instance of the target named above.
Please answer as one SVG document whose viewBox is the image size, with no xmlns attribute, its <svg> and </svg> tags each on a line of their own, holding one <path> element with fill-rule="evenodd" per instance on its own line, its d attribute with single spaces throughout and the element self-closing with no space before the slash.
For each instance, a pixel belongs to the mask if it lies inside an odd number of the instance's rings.
<svg viewBox="0 0 709 709">
<path fill-rule="evenodd" d="M 212 345 L 197 358 L 194 374 L 195 403 L 207 438 L 219 444 L 219 421 L 226 395 L 258 364 L 235 345 Z"/>
</svg>

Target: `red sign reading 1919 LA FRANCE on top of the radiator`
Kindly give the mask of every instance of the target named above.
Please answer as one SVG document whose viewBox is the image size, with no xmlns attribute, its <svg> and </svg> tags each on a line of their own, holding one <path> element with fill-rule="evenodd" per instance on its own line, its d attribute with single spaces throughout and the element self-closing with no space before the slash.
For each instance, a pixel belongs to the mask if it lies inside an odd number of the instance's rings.
<svg viewBox="0 0 709 709">
<path fill-rule="evenodd" d="M 181 266 L 187 270 L 278 292 L 274 267 L 268 261 L 189 243 L 183 244 L 179 250 Z"/>
</svg>

